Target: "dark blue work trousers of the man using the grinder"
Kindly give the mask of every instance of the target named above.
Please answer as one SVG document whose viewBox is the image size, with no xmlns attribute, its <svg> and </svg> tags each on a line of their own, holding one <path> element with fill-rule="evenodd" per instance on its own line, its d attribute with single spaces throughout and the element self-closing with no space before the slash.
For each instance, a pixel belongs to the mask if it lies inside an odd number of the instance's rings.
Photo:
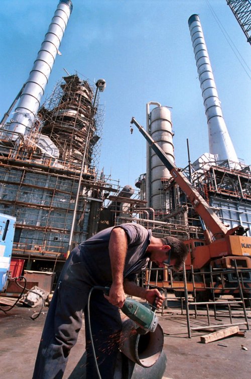
<svg viewBox="0 0 251 379">
<path fill-rule="evenodd" d="M 102 379 L 112 379 L 121 319 L 102 291 L 93 290 L 90 298 L 90 326 L 95 348 L 93 356 L 87 321 L 87 301 L 91 288 L 98 285 L 88 274 L 78 248 L 66 261 L 55 289 L 40 341 L 33 379 L 61 379 L 68 355 L 75 345 L 85 316 L 86 379 L 98 378 L 95 359 Z M 100 284 L 99 284 L 100 285 Z"/>
</svg>

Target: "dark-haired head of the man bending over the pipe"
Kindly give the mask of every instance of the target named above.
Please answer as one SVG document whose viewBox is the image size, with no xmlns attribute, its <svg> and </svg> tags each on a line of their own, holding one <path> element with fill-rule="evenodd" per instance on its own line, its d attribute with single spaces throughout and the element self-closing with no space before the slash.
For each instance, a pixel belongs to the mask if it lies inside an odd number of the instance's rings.
<svg viewBox="0 0 251 379">
<path fill-rule="evenodd" d="M 167 259 L 162 263 L 164 265 L 172 265 L 175 271 L 179 271 L 187 257 L 186 245 L 174 237 L 161 238 L 163 250 L 166 250 Z"/>
</svg>

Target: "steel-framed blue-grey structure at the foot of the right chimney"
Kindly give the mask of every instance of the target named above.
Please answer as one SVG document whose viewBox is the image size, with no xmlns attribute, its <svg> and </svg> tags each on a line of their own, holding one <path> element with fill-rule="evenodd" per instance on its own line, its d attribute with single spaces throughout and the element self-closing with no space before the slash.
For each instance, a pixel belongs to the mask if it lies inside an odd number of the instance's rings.
<svg viewBox="0 0 251 379">
<path fill-rule="evenodd" d="M 199 166 L 195 162 L 191 167 L 194 186 L 220 220 L 230 228 L 241 225 L 249 229 L 246 233 L 251 236 L 250 166 L 240 164 L 234 169 L 229 161 L 211 161 Z"/>
</svg>

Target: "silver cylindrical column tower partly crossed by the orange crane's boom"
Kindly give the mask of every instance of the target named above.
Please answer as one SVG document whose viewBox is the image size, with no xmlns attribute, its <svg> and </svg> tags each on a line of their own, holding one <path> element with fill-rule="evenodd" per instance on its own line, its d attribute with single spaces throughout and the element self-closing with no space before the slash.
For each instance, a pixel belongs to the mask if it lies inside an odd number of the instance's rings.
<svg viewBox="0 0 251 379">
<path fill-rule="evenodd" d="M 149 133 L 155 142 L 161 146 L 169 159 L 174 162 L 171 112 L 167 107 L 162 107 L 159 103 L 148 103 L 148 105 L 149 104 L 158 105 L 158 107 L 154 108 L 150 114 L 147 114 L 147 128 Z M 147 108 L 147 112 L 149 112 L 149 108 Z M 165 193 L 163 191 L 163 180 L 165 181 L 169 179 L 171 175 L 167 167 L 151 149 L 151 146 L 148 145 L 147 151 L 148 207 L 153 208 L 155 211 L 165 213 L 167 211 L 167 204 Z"/>
</svg>

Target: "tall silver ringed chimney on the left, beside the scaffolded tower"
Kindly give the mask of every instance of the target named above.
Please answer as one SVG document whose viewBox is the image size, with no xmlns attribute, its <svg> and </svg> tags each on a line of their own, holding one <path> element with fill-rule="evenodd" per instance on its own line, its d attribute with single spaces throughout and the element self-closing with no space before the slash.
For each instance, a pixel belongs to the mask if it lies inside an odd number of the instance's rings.
<svg viewBox="0 0 251 379">
<path fill-rule="evenodd" d="M 60 0 L 30 76 L 25 83 L 12 122 L 6 127 L 11 132 L 27 134 L 27 129 L 32 128 L 71 11 L 71 0 Z M 8 133 L 8 135 L 13 141 L 18 138 L 16 134 Z"/>
</svg>

